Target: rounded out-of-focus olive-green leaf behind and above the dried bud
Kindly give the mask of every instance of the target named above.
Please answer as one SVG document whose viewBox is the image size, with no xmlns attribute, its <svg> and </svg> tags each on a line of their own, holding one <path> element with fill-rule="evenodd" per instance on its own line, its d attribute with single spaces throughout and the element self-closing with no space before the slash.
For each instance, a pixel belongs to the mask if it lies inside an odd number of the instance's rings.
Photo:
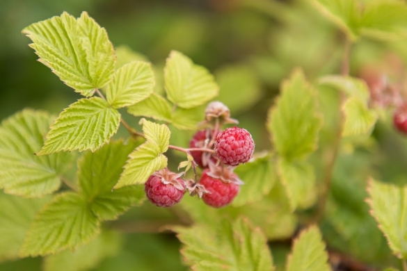
<svg viewBox="0 0 407 271">
<path fill-rule="evenodd" d="M 247 110 L 262 95 L 256 74 L 244 65 L 222 67 L 215 77 L 220 89 L 216 99 L 227 104 L 232 113 Z"/>
</svg>

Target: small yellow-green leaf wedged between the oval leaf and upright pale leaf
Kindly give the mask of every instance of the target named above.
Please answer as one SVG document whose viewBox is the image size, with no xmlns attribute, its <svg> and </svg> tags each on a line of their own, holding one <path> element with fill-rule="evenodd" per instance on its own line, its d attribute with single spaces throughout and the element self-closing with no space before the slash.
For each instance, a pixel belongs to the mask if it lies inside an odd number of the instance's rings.
<svg viewBox="0 0 407 271">
<path fill-rule="evenodd" d="M 134 116 L 152 117 L 154 120 L 170 122 L 171 106 L 168 101 L 158 94 L 152 93 L 150 97 L 127 108 L 127 112 Z"/>
</svg>

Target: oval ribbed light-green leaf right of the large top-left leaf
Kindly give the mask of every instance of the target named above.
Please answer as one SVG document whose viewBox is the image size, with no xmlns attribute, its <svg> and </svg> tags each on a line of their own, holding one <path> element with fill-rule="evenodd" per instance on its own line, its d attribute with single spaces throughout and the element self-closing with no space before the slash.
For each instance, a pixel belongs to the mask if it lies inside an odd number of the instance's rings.
<svg viewBox="0 0 407 271">
<path fill-rule="evenodd" d="M 106 99 L 113 108 L 131 106 L 146 99 L 154 88 L 150 63 L 133 61 L 118 69 L 107 85 Z"/>
</svg>

